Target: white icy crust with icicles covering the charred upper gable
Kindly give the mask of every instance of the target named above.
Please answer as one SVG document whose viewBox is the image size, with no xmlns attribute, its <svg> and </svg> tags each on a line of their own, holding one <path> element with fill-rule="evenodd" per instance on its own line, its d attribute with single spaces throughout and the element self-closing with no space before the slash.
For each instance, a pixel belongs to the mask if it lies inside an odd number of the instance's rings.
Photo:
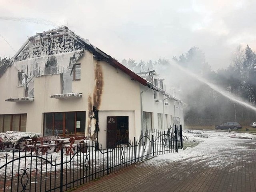
<svg viewBox="0 0 256 192">
<path fill-rule="evenodd" d="M 70 86 L 73 64 L 84 54 L 84 45 L 73 38 L 68 30 L 44 32 L 29 38 L 28 44 L 14 60 L 14 66 L 28 77 L 28 96 L 34 96 L 34 77 L 45 74 L 65 74 L 64 84 Z M 68 81 L 68 82 L 66 82 Z"/>
</svg>

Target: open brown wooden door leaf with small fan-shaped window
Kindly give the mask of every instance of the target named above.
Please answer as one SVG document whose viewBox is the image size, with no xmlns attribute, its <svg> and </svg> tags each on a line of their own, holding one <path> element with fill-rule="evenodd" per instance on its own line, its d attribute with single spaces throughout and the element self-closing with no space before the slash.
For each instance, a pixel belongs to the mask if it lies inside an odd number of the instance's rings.
<svg viewBox="0 0 256 192">
<path fill-rule="evenodd" d="M 107 145 L 114 148 L 116 144 L 116 116 L 107 116 Z"/>
</svg>

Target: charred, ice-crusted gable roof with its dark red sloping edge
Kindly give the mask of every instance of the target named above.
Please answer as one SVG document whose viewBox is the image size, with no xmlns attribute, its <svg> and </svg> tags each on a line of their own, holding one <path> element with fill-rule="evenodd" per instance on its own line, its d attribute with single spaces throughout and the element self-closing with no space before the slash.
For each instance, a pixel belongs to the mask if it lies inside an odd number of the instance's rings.
<svg viewBox="0 0 256 192">
<path fill-rule="evenodd" d="M 59 53 L 80 50 L 88 50 L 92 52 L 95 59 L 108 62 L 112 66 L 128 74 L 133 80 L 146 85 L 146 80 L 120 64 L 116 59 L 112 58 L 99 48 L 90 44 L 88 40 L 84 40 L 80 36 L 76 35 L 66 26 L 37 33 L 36 35 L 29 37 L 18 52 L 0 67 L 0 78 L 7 68 L 14 62 L 24 61 L 30 58 L 49 57 Z"/>
</svg>

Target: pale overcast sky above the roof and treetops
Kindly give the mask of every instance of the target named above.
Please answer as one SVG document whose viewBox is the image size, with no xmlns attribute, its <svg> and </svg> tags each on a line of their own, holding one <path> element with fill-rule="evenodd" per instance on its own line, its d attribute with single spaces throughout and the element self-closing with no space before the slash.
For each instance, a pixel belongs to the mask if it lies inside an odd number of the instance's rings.
<svg viewBox="0 0 256 192">
<path fill-rule="evenodd" d="M 198 46 L 217 70 L 239 44 L 255 50 L 255 9 L 255 0 L 0 0 L 0 56 L 67 25 L 119 61 L 171 59 Z"/>
</svg>

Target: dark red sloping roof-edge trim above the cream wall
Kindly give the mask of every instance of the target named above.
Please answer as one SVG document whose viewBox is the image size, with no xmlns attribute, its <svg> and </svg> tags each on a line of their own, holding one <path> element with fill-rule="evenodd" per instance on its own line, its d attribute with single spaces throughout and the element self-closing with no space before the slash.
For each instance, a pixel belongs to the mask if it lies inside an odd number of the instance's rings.
<svg viewBox="0 0 256 192">
<path fill-rule="evenodd" d="M 140 82 L 142 85 L 147 85 L 147 81 L 138 76 L 136 73 L 132 72 L 130 69 L 128 69 L 127 67 L 123 66 L 122 64 L 120 64 L 117 60 L 110 58 L 110 64 L 118 69 L 120 69 L 121 71 L 125 72 L 126 74 L 128 74 L 133 80 L 136 80 L 138 82 Z"/>
</svg>

